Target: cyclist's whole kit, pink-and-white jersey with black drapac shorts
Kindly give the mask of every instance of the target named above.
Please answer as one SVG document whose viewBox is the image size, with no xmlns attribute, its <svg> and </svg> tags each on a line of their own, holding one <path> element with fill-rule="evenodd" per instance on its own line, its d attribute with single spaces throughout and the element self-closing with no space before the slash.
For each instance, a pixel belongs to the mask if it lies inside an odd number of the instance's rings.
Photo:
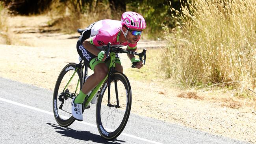
<svg viewBox="0 0 256 144">
<path fill-rule="evenodd" d="M 98 63 L 104 63 L 102 61 L 95 61 L 96 55 L 91 54 L 88 50 L 83 47 L 83 41 L 89 39 L 89 42 L 98 48 L 98 50 L 103 50 L 103 46 L 106 46 L 108 42 L 111 42 L 111 46 L 127 46 L 129 50 L 137 50 L 137 42 L 131 44 L 129 42 L 119 42 L 119 36 L 121 34 L 121 21 L 119 20 L 100 20 L 94 22 L 88 26 L 79 37 L 76 48 L 80 57 L 85 61 L 85 64 L 94 70 L 94 66 Z M 138 39 L 139 41 L 139 39 Z M 119 56 L 116 55 L 116 63 L 120 63 Z M 80 59 L 81 60 L 81 59 Z M 106 59 L 105 62 L 108 60 Z"/>
</svg>

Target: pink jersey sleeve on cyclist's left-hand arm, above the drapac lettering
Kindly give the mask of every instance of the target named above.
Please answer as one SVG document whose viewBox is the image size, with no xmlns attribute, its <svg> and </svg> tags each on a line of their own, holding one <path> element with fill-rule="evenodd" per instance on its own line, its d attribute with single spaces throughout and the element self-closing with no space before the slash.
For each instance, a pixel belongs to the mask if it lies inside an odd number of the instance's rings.
<svg viewBox="0 0 256 144">
<path fill-rule="evenodd" d="M 110 42 L 109 39 L 111 36 L 108 31 L 99 31 L 97 35 L 90 37 L 89 41 L 95 46 L 106 46 Z"/>
</svg>

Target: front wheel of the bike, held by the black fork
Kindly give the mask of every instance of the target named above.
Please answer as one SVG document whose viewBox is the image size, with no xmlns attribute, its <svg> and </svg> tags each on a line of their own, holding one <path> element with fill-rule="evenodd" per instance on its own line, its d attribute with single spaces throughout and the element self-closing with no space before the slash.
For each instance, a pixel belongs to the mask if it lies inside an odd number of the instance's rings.
<svg viewBox="0 0 256 144">
<path fill-rule="evenodd" d="M 132 106 L 132 92 L 126 76 L 116 72 L 110 81 L 110 91 L 107 80 L 102 85 L 96 105 L 98 131 L 105 139 L 116 138 L 122 133 Z"/>
</svg>

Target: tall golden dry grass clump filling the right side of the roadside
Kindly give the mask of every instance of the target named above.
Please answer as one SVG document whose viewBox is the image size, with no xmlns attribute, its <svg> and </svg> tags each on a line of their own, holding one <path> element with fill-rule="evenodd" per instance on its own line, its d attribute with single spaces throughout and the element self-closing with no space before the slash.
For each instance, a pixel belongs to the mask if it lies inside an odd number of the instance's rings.
<svg viewBox="0 0 256 144">
<path fill-rule="evenodd" d="M 172 15 L 177 27 L 166 37 L 173 46 L 163 55 L 165 76 L 185 87 L 221 83 L 238 96 L 250 95 L 245 90 L 256 79 L 256 1 L 189 0 L 182 13 L 172 11 L 179 17 Z"/>
</svg>

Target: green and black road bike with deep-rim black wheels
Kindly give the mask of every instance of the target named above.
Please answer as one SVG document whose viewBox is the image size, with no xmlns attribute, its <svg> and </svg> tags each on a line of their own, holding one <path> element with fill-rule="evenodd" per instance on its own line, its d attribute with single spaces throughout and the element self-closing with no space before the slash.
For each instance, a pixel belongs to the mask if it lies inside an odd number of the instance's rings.
<svg viewBox="0 0 256 144">
<path fill-rule="evenodd" d="M 82 33 L 83 30 L 78 29 Z M 128 78 L 115 70 L 115 55 L 119 53 L 138 55 L 146 63 L 146 51 L 141 53 L 111 47 L 109 42 L 104 47 L 108 65 L 108 75 L 93 89 L 83 101 L 82 112 L 96 100 L 96 125 L 100 135 L 108 140 L 118 137 L 128 121 L 132 105 L 132 89 Z M 135 68 L 136 63 L 132 67 Z M 60 72 L 53 94 L 53 112 L 56 122 L 63 127 L 70 126 L 75 119 L 71 113 L 71 101 L 82 89 L 87 78 L 88 67 L 81 60 L 79 64 L 69 63 Z"/>
</svg>

